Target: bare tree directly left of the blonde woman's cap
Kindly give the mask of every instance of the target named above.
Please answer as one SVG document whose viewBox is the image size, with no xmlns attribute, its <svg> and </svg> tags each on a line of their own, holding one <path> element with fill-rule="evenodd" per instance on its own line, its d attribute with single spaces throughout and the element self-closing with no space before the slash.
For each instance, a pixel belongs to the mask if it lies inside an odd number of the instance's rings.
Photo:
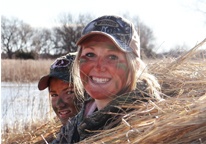
<svg viewBox="0 0 206 144">
<path fill-rule="evenodd" d="M 92 20 L 89 14 L 80 14 L 78 19 L 74 19 L 72 14 L 61 14 L 58 18 L 60 26 L 53 28 L 56 54 L 66 54 L 77 50 L 76 42 L 81 37 L 81 32 L 85 24 Z"/>
</svg>

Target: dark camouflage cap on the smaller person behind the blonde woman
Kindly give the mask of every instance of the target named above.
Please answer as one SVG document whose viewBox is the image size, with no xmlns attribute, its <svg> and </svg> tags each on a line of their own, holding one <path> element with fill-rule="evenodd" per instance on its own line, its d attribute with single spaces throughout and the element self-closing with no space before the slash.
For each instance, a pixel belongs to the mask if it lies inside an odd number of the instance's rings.
<svg viewBox="0 0 206 144">
<path fill-rule="evenodd" d="M 73 66 L 75 53 L 67 54 L 60 58 L 57 58 L 50 66 L 50 73 L 43 76 L 38 83 L 39 90 L 44 90 L 49 86 L 49 78 L 55 77 L 66 83 L 73 82 L 71 76 L 71 69 Z"/>
</svg>

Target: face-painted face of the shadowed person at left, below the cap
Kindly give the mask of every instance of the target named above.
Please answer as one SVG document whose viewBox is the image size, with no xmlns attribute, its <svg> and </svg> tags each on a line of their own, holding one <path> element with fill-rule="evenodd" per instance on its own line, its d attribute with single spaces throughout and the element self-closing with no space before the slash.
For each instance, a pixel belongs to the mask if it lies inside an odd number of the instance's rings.
<svg viewBox="0 0 206 144">
<path fill-rule="evenodd" d="M 74 104 L 76 98 L 73 84 L 65 83 L 60 79 L 52 77 L 49 86 L 49 94 L 51 96 L 53 110 L 61 120 L 61 123 L 65 125 L 69 118 L 77 114 Z"/>
</svg>

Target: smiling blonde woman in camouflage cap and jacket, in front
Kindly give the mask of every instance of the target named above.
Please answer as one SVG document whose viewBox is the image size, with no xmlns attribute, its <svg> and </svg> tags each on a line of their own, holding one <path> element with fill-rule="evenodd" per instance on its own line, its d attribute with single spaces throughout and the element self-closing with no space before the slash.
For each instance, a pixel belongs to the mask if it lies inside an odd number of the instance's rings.
<svg viewBox="0 0 206 144">
<path fill-rule="evenodd" d="M 74 88 L 79 95 L 85 89 L 92 100 L 67 122 L 54 143 L 78 142 L 114 128 L 134 106 L 161 99 L 160 86 L 140 59 L 139 36 L 128 20 L 99 17 L 83 29 L 76 45 L 80 48 L 73 69 Z M 73 129 L 76 133 L 71 133 Z"/>
</svg>

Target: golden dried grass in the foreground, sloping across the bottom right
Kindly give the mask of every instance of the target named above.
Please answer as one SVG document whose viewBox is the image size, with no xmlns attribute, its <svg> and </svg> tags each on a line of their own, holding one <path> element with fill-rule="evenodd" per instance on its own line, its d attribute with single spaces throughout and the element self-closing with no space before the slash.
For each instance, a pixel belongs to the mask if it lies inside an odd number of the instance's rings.
<svg viewBox="0 0 206 144">
<path fill-rule="evenodd" d="M 150 101 L 125 115 L 120 126 L 80 143 L 206 142 L 205 102 L 206 95 Z"/>
</svg>

